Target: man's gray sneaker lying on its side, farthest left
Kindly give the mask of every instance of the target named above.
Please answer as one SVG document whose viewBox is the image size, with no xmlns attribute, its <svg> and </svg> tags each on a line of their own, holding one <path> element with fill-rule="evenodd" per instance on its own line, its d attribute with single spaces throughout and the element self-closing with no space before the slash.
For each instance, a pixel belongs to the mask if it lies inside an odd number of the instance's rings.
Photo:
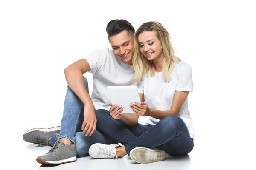
<svg viewBox="0 0 256 170">
<path fill-rule="evenodd" d="M 60 133 L 61 127 L 56 126 L 48 129 L 34 128 L 26 131 L 23 135 L 23 140 L 29 143 L 38 144 L 36 147 L 50 146 L 48 139 L 55 133 Z"/>
</svg>

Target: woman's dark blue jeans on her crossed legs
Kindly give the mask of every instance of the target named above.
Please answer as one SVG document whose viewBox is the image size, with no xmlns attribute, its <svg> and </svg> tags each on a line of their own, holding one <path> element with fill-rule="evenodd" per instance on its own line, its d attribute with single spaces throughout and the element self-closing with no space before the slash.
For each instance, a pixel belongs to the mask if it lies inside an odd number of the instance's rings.
<svg viewBox="0 0 256 170">
<path fill-rule="evenodd" d="M 155 147 L 180 156 L 188 154 L 194 147 L 185 122 L 176 115 L 161 119 L 153 127 L 139 123 L 130 127 L 122 119 L 112 118 L 104 109 L 97 110 L 96 117 L 98 130 L 125 145 L 128 155 L 135 147 Z"/>
</svg>

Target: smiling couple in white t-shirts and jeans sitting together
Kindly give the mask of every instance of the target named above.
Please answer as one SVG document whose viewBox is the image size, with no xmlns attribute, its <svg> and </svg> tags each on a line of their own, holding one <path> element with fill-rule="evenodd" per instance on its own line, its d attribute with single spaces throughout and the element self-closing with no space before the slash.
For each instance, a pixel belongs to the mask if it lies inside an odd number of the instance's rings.
<svg viewBox="0 0 256 170">
<path fill-rule="evenodd" d="M 143 23 L 135 32 L 128 21 L 111 20 L 106 29 L 112 50 L 94 51 L 64 70 L 68 88 L 61 127 L 23 135 L 38 147 L 52 146 L 38 163 L 63 164 L 89 153 L 93 158 L 128 155 L 145 164 L 163 161 L 166 152 L 180 156 L 193 149 L 187 99 L 192 70 L 174 55 L 169 33 L 159 22 Z M 87 71 L 94 80 L 91 98 L 83 77 Z M 137 86 L 141 103 L 131 104 L 134 113 L 111 105 L 107 86 L 124 85 Z M 148 122 L 139 124 L 139 116 L 148 116 Z"/>
</svg>

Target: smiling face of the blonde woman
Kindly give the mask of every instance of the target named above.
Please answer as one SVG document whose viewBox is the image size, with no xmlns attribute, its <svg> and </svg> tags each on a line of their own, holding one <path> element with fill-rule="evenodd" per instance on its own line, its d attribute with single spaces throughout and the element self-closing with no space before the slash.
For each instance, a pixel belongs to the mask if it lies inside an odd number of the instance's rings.
<svg viewBox="0 0 256 170">
<path fill-rule="evenodd" d="M 148 60 L 156 59 L 163 55 L 160 40 L 157 38 L 157 31 L 143 31 L 138 37 L 140 52 Z"/>
</svg>

